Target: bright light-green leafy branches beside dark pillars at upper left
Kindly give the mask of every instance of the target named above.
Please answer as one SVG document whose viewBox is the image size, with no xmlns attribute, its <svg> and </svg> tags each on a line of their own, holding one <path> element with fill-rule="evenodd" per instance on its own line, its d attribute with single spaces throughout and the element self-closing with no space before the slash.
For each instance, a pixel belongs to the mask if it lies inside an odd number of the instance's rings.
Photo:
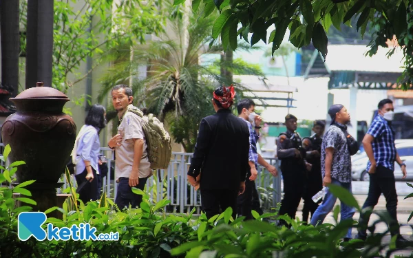
<svg viewBox="0 0 413 258">
<path fill-rule="evenodd" d="M 162 1 L 54 0 L 52 86 L 62 92 L 83 80 L 103 62 L 107 49 L 145 42 L 147 34 L 162 31 Z M 78 6 L 75 10 L 74 6 Z M 27 25 L 27 0 L 21 1 L 21 28 Z M 25 50 L 25 34 L 21 36 Z M 94 57 L 92 69 L 81 72 L 81 63 Z M 74 80 L 67 76 L 74 74 Z"/>
</svg>

